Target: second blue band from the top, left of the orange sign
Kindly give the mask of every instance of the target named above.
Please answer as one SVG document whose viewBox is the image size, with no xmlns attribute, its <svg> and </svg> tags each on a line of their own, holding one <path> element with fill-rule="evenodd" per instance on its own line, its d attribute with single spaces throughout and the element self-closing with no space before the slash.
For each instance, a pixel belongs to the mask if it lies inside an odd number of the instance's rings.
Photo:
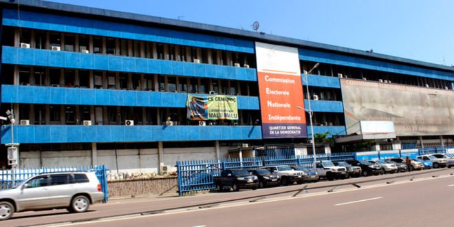
<svg viewBox="0 0 454 227">
<path fill-rule="evenodd" d="M 256 69 L 103 54 L 2 47 L 2 63 L 257 81 Z M 75 59 L 73 61 L 73 59 Z M 182 73 L 182 74 L 177 74 Z"/>
</svg>

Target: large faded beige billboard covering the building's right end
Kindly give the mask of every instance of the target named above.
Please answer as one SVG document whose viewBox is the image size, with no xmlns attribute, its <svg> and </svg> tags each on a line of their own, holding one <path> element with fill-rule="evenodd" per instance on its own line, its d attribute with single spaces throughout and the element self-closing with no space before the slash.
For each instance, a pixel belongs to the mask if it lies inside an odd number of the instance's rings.
<svg viewBox="0 0 454 227">
<path fill-rule="evenodd" d="M 454 134 L 454 91 L 340 79 L 347 133 L 361 120 L 394 122 L 396 136 Z"/>
</svg>

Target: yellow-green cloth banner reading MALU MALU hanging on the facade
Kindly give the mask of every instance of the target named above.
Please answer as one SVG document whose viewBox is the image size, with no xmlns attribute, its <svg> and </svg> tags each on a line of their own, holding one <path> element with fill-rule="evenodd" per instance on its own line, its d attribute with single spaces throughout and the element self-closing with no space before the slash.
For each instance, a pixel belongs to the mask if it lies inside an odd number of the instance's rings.
<svg viewBox="0 0 454 227">
<path fill-rule="evenodd" d="M 191 120 L 238 120 L 237 96 L 193 96 L 186 100 Z"/>
</svg>

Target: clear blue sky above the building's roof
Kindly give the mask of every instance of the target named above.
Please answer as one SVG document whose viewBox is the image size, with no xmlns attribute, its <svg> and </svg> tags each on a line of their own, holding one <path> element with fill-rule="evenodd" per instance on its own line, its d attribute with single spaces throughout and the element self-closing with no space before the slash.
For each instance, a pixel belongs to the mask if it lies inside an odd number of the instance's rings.
<svg viewBox="0 0 454 227">
<path fill-rule="evenodd" d="M 52 0 L 454 65 L 451 0 Z"/>
</svg>

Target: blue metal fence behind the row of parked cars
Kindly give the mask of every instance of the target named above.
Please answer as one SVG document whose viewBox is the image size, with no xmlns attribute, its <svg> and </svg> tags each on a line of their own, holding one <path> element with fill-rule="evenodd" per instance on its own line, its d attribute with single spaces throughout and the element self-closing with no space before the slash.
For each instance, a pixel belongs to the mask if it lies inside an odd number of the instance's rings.
<svg viewBox="0 0 454 227">
<path fill-rule="evenodd" d="M 316 155 L 316 160 L 353 160 L 354 153 L 334 153 Z M 221 175 L 225 169 L 259 169 L 262 166 L 272 165 L 298 165 L 312 166 L 312 155 L 296 157 L 294 155 L 281 155 L 271 157 L 223 159 L 223 160 L 198 160 L 178 161 L 178 193 L 186 195 L 193 191 L 204 191 L 215 188 L 213 177 Z"/>
</svg>

